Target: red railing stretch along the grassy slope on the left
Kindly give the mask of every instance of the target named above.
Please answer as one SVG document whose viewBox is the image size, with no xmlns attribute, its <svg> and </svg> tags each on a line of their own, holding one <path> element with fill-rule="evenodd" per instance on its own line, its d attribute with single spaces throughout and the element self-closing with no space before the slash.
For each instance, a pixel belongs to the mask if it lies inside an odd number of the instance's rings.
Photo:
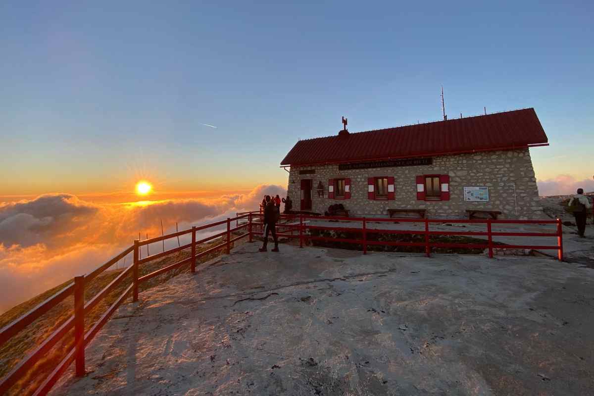
<svg viewBox="0 0 594 396">
<path fill-rule="evenodd" d="M 230 224 L 232 221 L 238 221 L 242 218 L 248 218 L 249 221 L 247 223 L 242 224 L 241 226 L 231 228 Z M 14 335 L 18 334 L 18 332 L 22 331 L 27 325 L 30 325 L 33 321 L 40 318 L 44 313 L 47 313 L 50 309 L 58 305 L 59 303 L 63 302 L 67 297 L 74 296 L 74 308 L 72 315 L 66 319 L 52 334 L 49 335 L 48 338 L 42 341 L 42 343 L 33 351 L 31 351 L 27 356 L 20 360 L 20 362 L 15 365 L 12 370 L 4 376 L 0 380 L 0 394 L 5 394 L 14 385 L 19 379 L 23 378 L 23 376 L 31 369 L 43 356 L 45 356 L 51 349 L 58 343 L 65 335 L 68 334 L 72 328 L 74 328 L 74 347 L 68 351 L 67 355 L 62 359 L 58 365 L 55 366 L 55 369 L 45 378 L 45 381 L 34 391 L 34 395 L 43 395 L 49 392 L 49 390 L 53 387 L 53 385 L 58 381 L 58 379 L 64 374 L 64 372 L 68 369 L 73 361 L 75 361 L 75 373 L 77 376 L 82 376 L 85 373 L 84 369 L 84 349 L 93 339 L 93 337 L 101 330 L 103 325 L 109 320 L 110 316 L 113 312 L 118 309 L 118 307 L 124 302 L 124 300 L 128 297 L 130 293 L 132 293 L 132 300 L 138 301 L 138 286 L 143 283 L 144 281 L 149 280 L 150 278 L 156 277 L 157 275 L 166 273 L 174 268 L 179 268 L 185 264 L 191 264 L 190 269 L 192 273 L 195 273 L 195 261 L 196 259 L 210 254 L 214 251 L 218 251 L 220 249 L 225 249 L 225 252 L 229 254 L 231 244 L 239 239 L 244 237 L 248 237 L 249 240 L 252 239 L 252 222 L 251 222 L 252 215 L 247 213 L 242 216 L 228 218 L 227 220 L 217 221 L 216 223 L 206 224 L 200 227 L 192 227 L 191 229 L 175 232 L 172 234 L 168 234 L 165 236 L 159 236 L 151 239 L 146 239 L 143 241 L 134 240 L 134 245 L 130 246 L 129 248 L 125 249 L 123 252 L 115 256 L 114 258 L 110 259 L 100 267 L 96 268 L 96 270 L 92 271 L 87 275 L 81 275 L 74 277 L 74 282 L 68 284 L 68 286 L 64 287 L 64 289 L 60 290 L 59 292 L 53 294 L 52 297 L 45 300 L 44 302 L 37 305 L 35 308 L 31 309 L 31 311 L 25 313 L 24 315 L 20 316 L 20 318 L 15 319 L 10 324 L 6 325 L 2 329 L 0 329 L 0 347 L 4 345 L 10 338 L 14 337 Z M 209 237 L 196 240 L 196 233 L 201 230 L 206 230 L 211 227 L 222 226 L 226 224 L 226 230 L 220 233 L 216 233 Z M 231 233 L 242 230 L 247 228 L 248 231 L 231 238 Z M 149 245 L 149 243 L 160 242 L 165 239 L 178 237 L 182 235 L 188 235 L 191 233 L 192 242 L 188 243 L 187 245 L 182 245 L 176 247 L 174 249 L 170 249 L 168 251 L 160 252 L 158 254 L 147 256 L 146 258 L 140 259 L 139 258 L 139 251 L 141 246 Z M 206 249 L 200 253 L 196 253 L 197 246 L 201 245 L 204 242 L 208 242 L 210 240 L 225 237 L 225 242 L 220 243 L 212 248 Z M 183 259 L 175 264 L 168 265 L 165 268 L 160 268 L 159 270 L 153 271 L 150 274 L 146 274 L 143 276 L 139 276 L 140 273 L 140 265 L 145 264 L 149 261 L 153 261 L 154 259 L 162 258 L 164 256 L 168 256 L 170 254 L 174 254 L 176 252 L 181 252 L 186 249 L 191 249 L 191 254 L 187 259 Z M 85 286 L 89 284 L 93 278 L 97 277 L 97 275 L 101 274 L 103 271 L 107 270 L 108 268 L 112 267 L 112 265 L 116 264 L 120 259 L 124 258 L 128 254 L 132 253 L 134 255 L 134 260 L 132 265 L 128 268 L 125 268 L 122 273 L 120 273 L 115 279 L 113 279 L 108 286 L 104 287 L 99 293 L 93 296 L 89 301 L 86 303 L 84 302 L 84 290 Z M 115 289 L 119 284 L 121 284 L 125 278 L 128 278 L 129 275 L 132 277 L 131 284 L 124 290 L 122 294 L 118 296 L 115 302 L 109 306 L 107 311 L 103 313 L 102 316 L 95 322 L 95 324 L 84 332 L 84 319 L 85 315 L 89 315 L 90 311 L 97 306 L 113 289 Z"/>
</svg>

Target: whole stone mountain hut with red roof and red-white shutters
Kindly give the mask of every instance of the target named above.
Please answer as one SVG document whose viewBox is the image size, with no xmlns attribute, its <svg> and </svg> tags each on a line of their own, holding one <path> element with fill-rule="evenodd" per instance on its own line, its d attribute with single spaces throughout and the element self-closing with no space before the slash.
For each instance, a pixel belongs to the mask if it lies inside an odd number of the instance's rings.
<svg viewBox="0 0 594 396">
<path fill-rule="evenodd" d="M 293 209 L 387 217 L 388 209 L 467 218 L 542 218 L 530 147 L 548 145 L 534 109 L 298 141 L 289 167 Z"/>
</svg>

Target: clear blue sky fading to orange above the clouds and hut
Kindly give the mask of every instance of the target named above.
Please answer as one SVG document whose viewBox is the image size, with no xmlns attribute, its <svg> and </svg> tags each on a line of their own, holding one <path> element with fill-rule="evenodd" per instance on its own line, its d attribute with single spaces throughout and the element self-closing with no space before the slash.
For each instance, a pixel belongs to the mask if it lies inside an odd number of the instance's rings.
<svg viewBox="0 0 594 396">
<path fill-rule="evenodd" d="M 0 195 L 286 183 L 299 138 L 535 107 L 591 178 L 592 2 L 3 2 Z M 211 128 L 204 123 L 217 126 Z"/>
</svg>

